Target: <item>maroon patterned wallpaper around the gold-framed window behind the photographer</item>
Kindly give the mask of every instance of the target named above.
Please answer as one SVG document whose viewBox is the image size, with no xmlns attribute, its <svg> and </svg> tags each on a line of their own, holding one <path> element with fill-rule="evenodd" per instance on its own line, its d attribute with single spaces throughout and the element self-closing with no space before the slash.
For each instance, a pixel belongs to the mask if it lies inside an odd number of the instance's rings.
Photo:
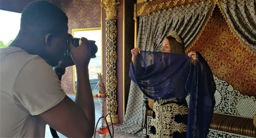
<svg viewBox="0 0 256 138">
<path fill-rule="evenodd" d="M 101 27 L 100 0 L 61 0 L 61 9 L 69 18 L 69 33 L 72 29 Z M 62 88 L 74 94 L 73 67 L 62 76 Z"/>
</svg>

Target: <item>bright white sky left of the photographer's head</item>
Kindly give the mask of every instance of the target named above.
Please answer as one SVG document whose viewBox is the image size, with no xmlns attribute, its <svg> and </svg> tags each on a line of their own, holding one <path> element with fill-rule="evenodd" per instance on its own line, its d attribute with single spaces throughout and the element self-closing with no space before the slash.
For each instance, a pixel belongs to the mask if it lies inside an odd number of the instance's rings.
<svg viewBox="0 0 256 138">
<path fill-rule="evenodd" d="M 0 40 L 7 44 L 20 30 L 20 13 L 0 10 Z"/>
</svg>

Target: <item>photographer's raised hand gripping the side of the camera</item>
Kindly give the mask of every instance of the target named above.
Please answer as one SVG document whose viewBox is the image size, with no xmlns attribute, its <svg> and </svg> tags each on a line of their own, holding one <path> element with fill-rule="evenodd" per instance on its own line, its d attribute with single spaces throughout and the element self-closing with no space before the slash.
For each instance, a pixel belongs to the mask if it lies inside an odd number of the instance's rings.
<svg viewBox="0 0 256 138">
<path fill-rule="evenodd" d="M 71 57 L 76 65 L 88 66 L 91 59 L 91 47 L 88 45 L 88 40 L 84 37 L 81 38 L 82 43 L 79 47 L 75 47 L 70 43 Z"/>
</svg>

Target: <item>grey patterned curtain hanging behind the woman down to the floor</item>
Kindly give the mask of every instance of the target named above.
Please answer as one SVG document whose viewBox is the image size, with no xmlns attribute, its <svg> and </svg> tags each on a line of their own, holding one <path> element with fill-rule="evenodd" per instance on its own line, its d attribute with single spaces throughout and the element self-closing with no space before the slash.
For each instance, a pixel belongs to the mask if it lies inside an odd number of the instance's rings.
<svg viewBox="0 0 256 138">
<path fill-rule="evenodd" d="M 161 51 L 161 43 L 170 31 L 175 30 L 184 38 L 185 47 L 195 39 L 214 10 L 214 2 L 191 4 L 178 9 L 156 12 L 141 16 L 137 37 L 137 47 L 144 51 Z M 125 121 L 117 130 L 123 133 L 142 134 L 142 100 L 139 87 L 131 82 Z M 149 123 L 149 122 L 148 122 Z"/>
</svg>

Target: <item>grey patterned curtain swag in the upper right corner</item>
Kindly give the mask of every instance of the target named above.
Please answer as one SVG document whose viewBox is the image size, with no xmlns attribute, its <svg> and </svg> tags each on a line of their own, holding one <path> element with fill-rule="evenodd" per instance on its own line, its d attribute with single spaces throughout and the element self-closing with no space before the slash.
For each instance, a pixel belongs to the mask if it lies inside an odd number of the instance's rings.
<svg viewBox="0 0 256 138">
<path fill-rule="evenodd" d="M 219 7 L 235 34 L 256 52 L 256 1 L 226 0 Z"/>
</svg>

